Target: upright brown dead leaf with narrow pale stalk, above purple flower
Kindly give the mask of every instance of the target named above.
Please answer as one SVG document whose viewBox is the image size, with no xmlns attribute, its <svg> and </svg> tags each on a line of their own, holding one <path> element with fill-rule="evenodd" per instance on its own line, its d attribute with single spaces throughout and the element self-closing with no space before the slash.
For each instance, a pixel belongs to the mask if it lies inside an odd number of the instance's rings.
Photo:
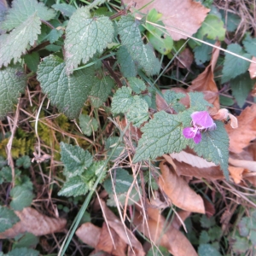
<svg viewBox="0 0 256 256">
<path fill-rule="evenodd" d="M 220 42 L 216 42 L 216 46 L 220 46 Z M 189 91 L 211 91 L 213 94 L 208 99 L 208 102 L 212 103 L 214 109 L 212 113 L 218 112 L 219 109 L 219 97 L 218 97 L 218 87 L 214 81 L 214 68 L 218 60 L 219 49 L 212 49 L 212 60 L 207 66 L 205 71 L 201 73 L 196 79 L 192 81 L 192 85 L 189 87 Z"/>
</svg>

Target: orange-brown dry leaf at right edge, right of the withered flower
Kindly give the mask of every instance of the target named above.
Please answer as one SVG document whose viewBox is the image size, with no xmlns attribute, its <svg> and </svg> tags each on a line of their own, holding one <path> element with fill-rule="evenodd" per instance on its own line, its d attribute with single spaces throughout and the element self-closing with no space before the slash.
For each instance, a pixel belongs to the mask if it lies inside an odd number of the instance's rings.
<svg viewBox="0 0 256 256">
<path fill-rule="evenodd" d="M 245 108 L 237 120 L 237 129 L 233 129 L 230 124 L 225 128 L 230 137 L 230 151 L 239 154 L 242 148 L 247 147 L 256 138 L 256 104 Z"/>
</svg>

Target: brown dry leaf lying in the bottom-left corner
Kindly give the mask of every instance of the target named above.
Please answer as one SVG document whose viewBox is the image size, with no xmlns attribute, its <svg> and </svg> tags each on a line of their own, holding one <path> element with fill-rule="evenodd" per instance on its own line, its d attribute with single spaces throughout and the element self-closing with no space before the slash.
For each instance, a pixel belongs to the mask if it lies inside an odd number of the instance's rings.
<svg viewBox="0 0 256 256">
<path fill-rule="evenodd" d="M 44 236 L 63 230 L 67 224 L 64 218 L 49 218 L 31 207 L 26 207 L 21 212 L 15 211 L 15 214 L 20 218 L 20 222 L 0 233 L 0 239 L 14 238 L 25 232 Z"/>
</svg>

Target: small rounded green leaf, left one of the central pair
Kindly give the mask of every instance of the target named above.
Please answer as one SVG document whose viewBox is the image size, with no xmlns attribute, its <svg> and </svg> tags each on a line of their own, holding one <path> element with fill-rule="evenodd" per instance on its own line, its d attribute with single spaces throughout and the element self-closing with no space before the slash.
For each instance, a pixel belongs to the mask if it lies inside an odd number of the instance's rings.
<svg viewBox="0 0 256 256">
<path fill-rule="evenodd" d="M 113 95 L 111 110 L 112 113 L 125 113 L 131 107 L 133 97 L 131 88 L 123 86 Z"/>
</svg>

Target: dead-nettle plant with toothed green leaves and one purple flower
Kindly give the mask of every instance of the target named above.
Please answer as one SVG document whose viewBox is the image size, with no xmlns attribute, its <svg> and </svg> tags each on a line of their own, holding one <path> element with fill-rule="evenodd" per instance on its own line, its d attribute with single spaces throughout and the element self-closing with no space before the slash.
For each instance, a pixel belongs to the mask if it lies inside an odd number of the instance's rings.
<svg viewBox="0 0 256 256">
<path fill-rule="evenodd" d="M 148 44 L 141 30 L 146 27 L 149 32 L 154 31 L 156 38 L 161 38 L 164 30 L 154 28 L 152 22 L 147 26 L 148 19 L 157 20 L 157 12 L 137 20 L 126 9 L 112 16 L 94 10 L 105 2 L 96 0 L 78 9 L 62 3 L 49 9 L 36 0 L 13 1 L 1 23 L 5 33 L 0 36 L 0 116 L 14 108 L 26 88 L 27 77 L 36 73 L 50 103 L 69 119 L 79 119 L 85 135 L 90 136 L 97 126 L 95 119 L 80 115 L 87 101 L 92 108 L 104 108 L 109 117 L 120 115 L 128 125 L 140 128 L 143 136 L 135 142 L 133 163 L 154 161 L 163 154 L 179 153 L 189 147 L 220 166 L 228 179 L 229 137 L 224 123 L 213 121 L 207 112 L 211 104 L 202 93 L 189 92 L 189 107 L 185 107 L 180 101 L 185 95 L 170 90 L 162 94 L 155 86 L 153 76 L 160 74 L 161 62 L 154 48 L 159 45 L 153 48 Z M 65 18 L 62 23 L 56 20 L 59 11 Z M 159 51 L 172 43 L 172 38 L 165 40 Z M 38 49 L 44 48 L 53 54 L 40 60 Z M 113 67 L 106 60 L 114 61 Z M 26 75 L 24 64 L 32 73 Z M 117 72 L 121 73 L 121 79 Z M 157 112 L 157 94 L 172 111 Z M 108 108 L 105 102 L 110 96 L 112 102 Z M 104 181 L 109 160 L 119 147 L 125 148 L 124 133 L 120 131 L 119 138 L 107 141 L 107 160 L 93 160 L 83 148 L 61 143 L 67 181 L 59 195 L 93 193 L 97 184 Z M 120 170 L 119 181 L 131 178 L 132 183 L 131 175 Z M 111 191 L 108 179 L 104 186 Z M 124 189 L 119 189 L 119 193 L 123 192 Z"/>
</svg>

